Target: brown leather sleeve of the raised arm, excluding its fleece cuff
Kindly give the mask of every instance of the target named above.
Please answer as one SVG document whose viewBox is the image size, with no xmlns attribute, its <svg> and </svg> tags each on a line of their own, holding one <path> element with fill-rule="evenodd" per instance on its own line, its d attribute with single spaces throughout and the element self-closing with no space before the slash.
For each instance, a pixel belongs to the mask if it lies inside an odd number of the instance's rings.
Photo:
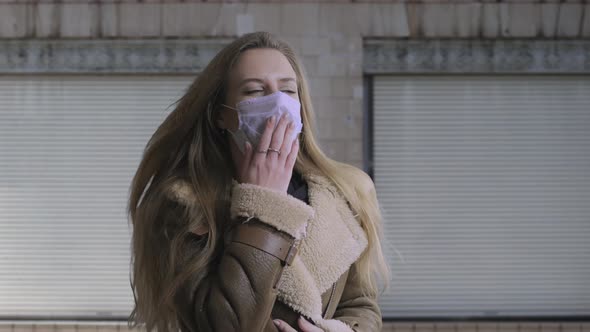
<svg viewBox="0 0 590 332">
<path fill-rule="evenodd" d="M 270 313 L 276 299 L 274 285 L 282 269 L 278 258 L 230 242 L 217 267 L 193 290 L 194 330 L 276 331 Z"/>
</svg>

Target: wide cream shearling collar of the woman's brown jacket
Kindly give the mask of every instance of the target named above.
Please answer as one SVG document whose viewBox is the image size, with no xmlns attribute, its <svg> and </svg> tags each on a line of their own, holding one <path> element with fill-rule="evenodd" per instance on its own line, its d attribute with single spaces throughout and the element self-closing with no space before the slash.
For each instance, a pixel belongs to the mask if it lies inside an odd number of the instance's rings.
<svg viewBox="0 0 590 332">
<path fill-rule="evenodd" d="M 302 172 L 302 176 L 307 182 L 309 206 L 313 213 L 298 255 L 283 271 L 278 298 L 296 312 L 318 322 L 323 321 L 321 294 L 350 268 L 368 243 L 359 221 L 336 186 L 317 173 Z M 194 192 L 188 182 L 178 180 L 168 192 L 170 197 L 189 207 L 195 219 L 200 219 Z"/>
</svg>

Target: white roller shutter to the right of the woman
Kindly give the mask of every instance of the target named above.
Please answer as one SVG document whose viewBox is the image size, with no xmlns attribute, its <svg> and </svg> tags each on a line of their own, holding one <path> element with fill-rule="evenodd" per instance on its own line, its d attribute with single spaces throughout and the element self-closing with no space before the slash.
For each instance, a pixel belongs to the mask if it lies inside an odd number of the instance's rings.
<svg viewBox="0 0 590 332">
<path fill-rule="evenodd" d="M 385 317 L 590 315 L 590 78 L 377 76 Z"/>
</svg>

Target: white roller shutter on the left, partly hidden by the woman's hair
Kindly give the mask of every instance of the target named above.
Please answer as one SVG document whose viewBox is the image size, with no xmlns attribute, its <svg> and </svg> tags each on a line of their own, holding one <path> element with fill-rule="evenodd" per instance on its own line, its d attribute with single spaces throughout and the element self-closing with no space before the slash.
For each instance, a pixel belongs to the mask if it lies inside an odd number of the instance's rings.
<svg viewBox="0 0 590 332">
<path fill-rule="evenodd" d="M 0 76 L 0 316 L 130 313 L 130 181 L 191 80 Z"/>
</svg>

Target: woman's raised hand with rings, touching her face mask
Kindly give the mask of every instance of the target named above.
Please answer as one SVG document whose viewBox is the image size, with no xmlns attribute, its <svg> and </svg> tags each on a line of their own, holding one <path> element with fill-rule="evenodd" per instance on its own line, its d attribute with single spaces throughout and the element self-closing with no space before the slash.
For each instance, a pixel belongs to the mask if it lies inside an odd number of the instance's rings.
<svg viewBox="0 0 590 332">
<path fill-rule="evenodd" d="M 281 116 L 273 131 L 275 121 L 274 116 L 267 121 L 258 147 L 253 149 L 250 143 L 246 143 L 245 153 L 238 160 L 234 158 L 234 163 L 240 183 L 287 192 L 299 153 L 299 140 L 296 138 L 291 141 L 296 126 L 287 113 Z"/>
</svg>

